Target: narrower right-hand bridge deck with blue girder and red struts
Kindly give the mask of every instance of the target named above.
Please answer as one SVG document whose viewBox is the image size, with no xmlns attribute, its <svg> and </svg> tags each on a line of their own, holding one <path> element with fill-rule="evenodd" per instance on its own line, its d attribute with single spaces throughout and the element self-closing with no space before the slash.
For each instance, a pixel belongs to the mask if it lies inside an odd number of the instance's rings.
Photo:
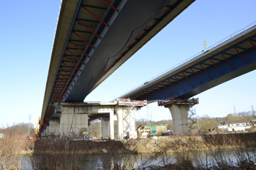
<svg viewBox="0 0 256 170">
<path fill-rule="evenodd" d="M 214 55 L 206 52 L 201 59 L 180 66 L 171 74 L 159 77 L 159 80 L 146 82 L 144 87 L 127 93 L 122 98 L 146 99 L 148 102 L 164 100 L 170 97 L 190 98 L 223 82 L 256 69 L 256 29 L 252 33 L 223 45 Z M 240 41 L 243 39 L 242 41 Z M 199 57 L 200 58 L 200 57 Z M 179 69 L 181 68 L 181 69 Z"/>
</svg>

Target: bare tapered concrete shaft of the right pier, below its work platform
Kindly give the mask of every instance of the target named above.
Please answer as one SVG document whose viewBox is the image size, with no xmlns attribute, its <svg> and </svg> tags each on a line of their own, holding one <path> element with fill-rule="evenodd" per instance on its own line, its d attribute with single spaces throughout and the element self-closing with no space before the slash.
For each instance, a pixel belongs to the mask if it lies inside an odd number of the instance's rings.
<svg viewBox="0 0 256 170">
<path fill-rule="evenodd" d="M 188 134 L 187 117 L 189 114 L 189 109 L 187 105 L 178 106 L 176 104 L 171 104 L 168 109 L 170 109 L 170 113 L 173 117 L 174 134 Z"/>
</svg>

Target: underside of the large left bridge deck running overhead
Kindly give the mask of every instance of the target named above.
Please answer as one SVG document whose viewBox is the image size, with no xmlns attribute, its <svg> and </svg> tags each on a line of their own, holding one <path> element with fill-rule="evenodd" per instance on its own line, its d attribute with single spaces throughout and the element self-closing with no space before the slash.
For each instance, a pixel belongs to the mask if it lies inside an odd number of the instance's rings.
<svg viewBox="0 0 256 170">
<path fill-rule="evenodd" d="M 49 104 L 83 101 L 193 1 L 62 1 L 42 107 L 44 123 L 54 112 Z"/>
</svg>

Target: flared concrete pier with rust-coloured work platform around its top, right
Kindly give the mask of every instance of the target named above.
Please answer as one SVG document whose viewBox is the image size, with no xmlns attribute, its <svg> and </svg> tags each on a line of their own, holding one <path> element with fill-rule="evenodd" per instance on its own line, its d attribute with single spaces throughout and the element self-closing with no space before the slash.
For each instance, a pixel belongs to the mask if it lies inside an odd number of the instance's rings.
<svg viewBox="0 0 256 170">
<path fill-rule="evenodd" d="M 178 135 L 188 134 L 188 113 L 189 108 L 198 104 L 198 98 L 169 98 L 165 101 L 158 101 L 158 106 L 170 109 L 173 117 L 173 133 Z"/>
</svg>

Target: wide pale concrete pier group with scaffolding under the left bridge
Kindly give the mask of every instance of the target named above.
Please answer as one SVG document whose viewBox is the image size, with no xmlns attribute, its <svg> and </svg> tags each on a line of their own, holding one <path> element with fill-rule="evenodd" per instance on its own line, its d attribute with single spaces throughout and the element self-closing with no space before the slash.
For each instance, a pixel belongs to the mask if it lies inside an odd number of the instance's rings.
<svg viewBox="0 0 256 170">
<path fill-rule="evenodd" d="M 59 129 L 52 123 L 54 131 L 62 135 L 83 136 L 89 133 L 89 119 L 102 120 L 103 139 L 114 139 L 114 113 L 118 118 L 118 135 L 120 139 L 135 139 L 135 114 L 138 108 L 146 106 L 147 101 L 132 101 L 129 98 L 118 98 L 116 101 L 61 103 Z M 52 129 L 52 131 L 53 131 Z M 57 132 L 56 132 L 57 133 Z"/>
</svg>

